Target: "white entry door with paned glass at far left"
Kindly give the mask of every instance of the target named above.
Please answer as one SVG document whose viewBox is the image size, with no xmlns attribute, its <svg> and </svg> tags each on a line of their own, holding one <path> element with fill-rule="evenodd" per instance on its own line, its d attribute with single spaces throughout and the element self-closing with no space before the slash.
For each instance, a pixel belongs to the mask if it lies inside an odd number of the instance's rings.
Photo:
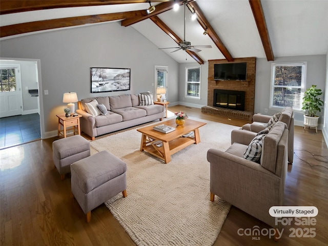
<svg viewBox="0 0 328 246">
<path fill-rule="evenodd" d="M 20 65 L 0 66 L 0 118 L 23 112 L 22 78 Z"/>
</svg>

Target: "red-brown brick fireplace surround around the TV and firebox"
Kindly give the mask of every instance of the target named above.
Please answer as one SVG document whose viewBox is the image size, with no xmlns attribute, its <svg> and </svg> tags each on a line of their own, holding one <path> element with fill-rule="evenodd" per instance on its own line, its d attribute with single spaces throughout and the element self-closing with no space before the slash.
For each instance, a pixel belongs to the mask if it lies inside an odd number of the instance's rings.
<svg viewBox="0 0 328 246">
<path fill-rule="evenodd" d="M 201 108 L 201 112 L 228 116 L 231 118 L 245 119 L 252 121 L 254 114 L 255 97 L 255 69 L 256 57 L 235 58 L 230 63 L 247 63 L 246 80 L 214 80 L 214 64 L 229 63 L 226 59 L 209 60 L 209 78 L 208 78 L 208 99 L 207 106 Z M 213 106 L 214 89 L 233 90 L 245 92 L 244 111 L 234 109 L 224 109 Z"/>
</svg>

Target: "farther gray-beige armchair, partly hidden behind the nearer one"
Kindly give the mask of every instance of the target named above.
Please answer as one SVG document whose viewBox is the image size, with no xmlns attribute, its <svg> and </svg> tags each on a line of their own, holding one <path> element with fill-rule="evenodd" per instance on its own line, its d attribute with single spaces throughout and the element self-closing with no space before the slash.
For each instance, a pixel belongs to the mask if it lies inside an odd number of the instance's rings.
<svg viewBox="0 0 328 246">
<path fill-rule="evenodd" d="M 242 126 L 242 130 L 248 130 L 255 133 L 262 131 L 268 125 L 269 120 L 272 116 L 263 114 L 254 114 L 252 124 L 245 124 Z M 278 121 L 284 122 L 289 130 L 288 135 L 288 162 L 293 163 L 294 159 L 294 111 L 291 107 L 286 107 Z"/>
</svg>

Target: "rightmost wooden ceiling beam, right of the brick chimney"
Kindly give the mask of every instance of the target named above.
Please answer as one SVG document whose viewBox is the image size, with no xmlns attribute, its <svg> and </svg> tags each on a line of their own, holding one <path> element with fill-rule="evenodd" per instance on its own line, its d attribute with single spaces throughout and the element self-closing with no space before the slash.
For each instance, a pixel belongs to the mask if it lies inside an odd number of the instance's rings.
<svg viewBox="0 0 328 246">
<path fill-rule="evenodd" d="M 274 55 L 271 47 L 269 32 L 267 28 L 267 23 L 265 22 L 265 17 L 262 9 L 262 4 L 260 0 L 249 0 L 251 9 L 254 15 L 255 23 L 258 29 L 258 32 L 261 37 L 262 45 L 264 48 L 265 55 L 267 60 L 274 60 Z"/>
</svg>

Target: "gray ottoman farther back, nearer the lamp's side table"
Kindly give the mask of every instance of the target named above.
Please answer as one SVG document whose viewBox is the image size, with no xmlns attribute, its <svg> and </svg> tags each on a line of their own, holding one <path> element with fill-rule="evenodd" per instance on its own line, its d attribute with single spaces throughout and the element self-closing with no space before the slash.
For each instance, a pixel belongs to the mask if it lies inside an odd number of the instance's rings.
<svg viewBox="0 0 328 246">
<path fill-rule="evenodd" d="M 90 142 L 80 135 L 52 142 L 52 158 L 61 180 L 71 172 L 71 164 L 90 156 Z"/>
</svg>

